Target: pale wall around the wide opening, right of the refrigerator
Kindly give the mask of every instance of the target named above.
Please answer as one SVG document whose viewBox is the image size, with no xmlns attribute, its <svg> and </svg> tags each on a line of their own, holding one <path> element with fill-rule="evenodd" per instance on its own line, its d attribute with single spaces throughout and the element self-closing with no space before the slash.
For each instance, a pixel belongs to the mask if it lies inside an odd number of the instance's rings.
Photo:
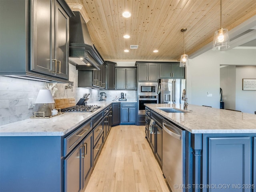
<svg viewBox="0 0 256 192">
<path fill-rule="evenodd" d="M 186 68 L 188 103 L 220 108 L 220 65 L 255 66 L 256 50 L 209 50 L 189 62 Z M 207 97 L 207 92 L 212 97 Z"/>
</svg>

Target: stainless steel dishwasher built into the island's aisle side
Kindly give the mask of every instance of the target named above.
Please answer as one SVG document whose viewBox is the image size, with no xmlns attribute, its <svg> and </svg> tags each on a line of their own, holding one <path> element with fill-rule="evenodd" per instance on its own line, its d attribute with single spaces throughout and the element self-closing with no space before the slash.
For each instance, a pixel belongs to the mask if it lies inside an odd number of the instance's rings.
<svg viewBox="0 0 256 192">
<path fill-rule="evenodd" d="M 172 192 L 185 191 L 185 138 L 186 131 L 162 120 L 162 171 Z"/>
</svg>

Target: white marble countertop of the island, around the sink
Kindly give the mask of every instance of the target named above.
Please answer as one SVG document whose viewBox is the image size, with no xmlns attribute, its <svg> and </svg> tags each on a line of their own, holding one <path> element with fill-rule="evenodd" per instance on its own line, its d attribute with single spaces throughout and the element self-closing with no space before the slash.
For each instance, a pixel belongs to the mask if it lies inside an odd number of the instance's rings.
<svg viewBox="0 0 256 192">
<path fill-rule="evenodd" d="M 188 105 L 187 113 L 167 113 L 157 107 L 183 110 L 183 104 L 145 104 L 191 133 L 256 133 L 256 115 L 204 106 Z"/>
</svg>

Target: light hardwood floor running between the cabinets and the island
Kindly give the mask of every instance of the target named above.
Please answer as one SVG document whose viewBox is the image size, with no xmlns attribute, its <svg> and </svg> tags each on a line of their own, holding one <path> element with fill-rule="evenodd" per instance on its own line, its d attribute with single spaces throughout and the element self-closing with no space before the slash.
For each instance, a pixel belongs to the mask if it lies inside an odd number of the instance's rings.
<svg viewBox="0 0 256 192">
<path fill-rule="evenodd" d="M 170 192 L 144 126 L 111 128 L 85 192 Z"/>
</svg>

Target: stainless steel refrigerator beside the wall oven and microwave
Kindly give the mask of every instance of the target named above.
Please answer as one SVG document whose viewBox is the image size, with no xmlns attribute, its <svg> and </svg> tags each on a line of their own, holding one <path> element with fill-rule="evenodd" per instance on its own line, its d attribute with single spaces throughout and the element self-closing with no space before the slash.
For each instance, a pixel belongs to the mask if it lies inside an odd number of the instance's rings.
<svg viewBox="0 0 256 192">
<path fill-rule="evenodd" d="M 181 104 L 183 89 L 186 89 L 186 79 L 159 79 L 159 103 Z"/>
</svg>

